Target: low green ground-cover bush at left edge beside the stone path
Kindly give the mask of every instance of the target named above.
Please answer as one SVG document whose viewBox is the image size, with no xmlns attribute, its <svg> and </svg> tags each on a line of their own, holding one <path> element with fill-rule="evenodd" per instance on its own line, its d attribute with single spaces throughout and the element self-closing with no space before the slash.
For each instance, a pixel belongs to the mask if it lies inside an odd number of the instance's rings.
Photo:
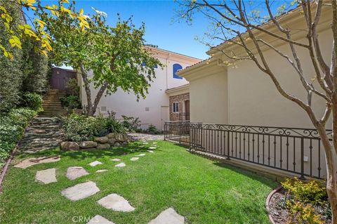
<svg viewBox="0 0 337 224">
<path fill-rule="evenodd" d="M 0 167 L 11 154 L 29 121 L 37 115 L 37 112 L 27 108 L 11 110 L 1 113 L 0 122 Z"/>
</svg>

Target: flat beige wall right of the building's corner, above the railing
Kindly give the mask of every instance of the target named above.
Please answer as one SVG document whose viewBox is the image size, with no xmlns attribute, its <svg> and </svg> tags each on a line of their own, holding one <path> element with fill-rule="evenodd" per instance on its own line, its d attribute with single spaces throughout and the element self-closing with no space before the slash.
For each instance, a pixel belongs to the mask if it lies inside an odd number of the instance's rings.
<svg viewBox="0 0 337 224">
<path fill-rule="evenodd" d="M 324 58 L 326 61 L 330 61 L 331 31 L 321 32 L 319 39 L 322 43 L 321 48 Z M 299 41 L 305 43 L 304 39 Z M 279 46 L 279 50 L 291 54 L 289 46 Z M 298 48 L 298 56 L 302 62 L 304 73 L 307 74 L 307 79 L 310 80 L 315 77 L 308 51 Z M 288 93 L 306 100 L 305 89 L 289 62 L 272 50 L 265 51 L 265 58 L 267 58 L 271 70 L 275 72 L 284 89 Z M 314 84 L 319 89 L 317 81 Z M 235 68 L 233 66 L 228 67 L 228 95 L 229 124 L 313 127 L 304 110 L 280 95 L 270 77 L 261 72 L 251 61 L 238 62 Z M 325 110 L 325 101 L 323 98 L 313 95 L 312 105 L 317 117 L 322 117 Z"/>
</svg>

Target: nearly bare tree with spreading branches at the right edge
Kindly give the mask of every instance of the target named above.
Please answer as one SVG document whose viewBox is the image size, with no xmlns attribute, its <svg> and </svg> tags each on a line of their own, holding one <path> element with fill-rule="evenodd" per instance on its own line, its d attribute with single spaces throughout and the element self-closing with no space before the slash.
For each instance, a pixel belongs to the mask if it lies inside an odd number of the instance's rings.
<svg viewBox="0 0 337 224">
<path fill-rule="evenodd" d="M 308 114 L 313 126 L 317 129 L 324 152 L 326 155 L 327 181 L 326 191 L 329 195 L 331 211 L 333 213 L 332 223 L 337 223 L 337 165 L 333 162 L 333 154 L 337 154 L 337 1 L 298 1 L 297 11 L 303 18 L 306 32 L 306 40 L 299 42 L 293 38 L 293 34 L 298 32 L 297 29 L 291 29 L 291 26 L 279 20 L 279 17 L 285 13 L 287 8 L 291 8 L 297 1 L 285 2 L 279 5 L 277 11 L 273 10 L 269 0 L 261 1 L 206 1 L 192 0 L 179 1 L 179 15 L 192 22 L 194 13 L 202 13 L 210 20 L 211 30 L 208 37 L 211 40 L 225 41 L 228 45 L 236 45 L 237 51 L 226 51 L 220 46 L 208 44 L 211 48 L 218 51 L 223 58 L 227 58 L 224 63 L 227 65 L 238 60 L 251 60 L 255 65 L 264 72 L 275 85 L 279 94 L 284 98 L 296 103 L 303 112 Z M 275 4 L 275 2 L 274 2 Z M 290 6 L 289 6 L 290 4 Z M 317 26 L 322 15 L 322 8 L 331 8 L 331 35 L 332 35 L 332 53 L 331 61 L 328 62 L 322 55 L 320 43 L 317 34 Z M 260 10 L 259 10 L 260 8 Z M 293 7 L 294 8 L 294 7 Z M 291 11 L 290 13 L 293 13 Z M 263 15 L 264 14 L 264 15 Z M 270 26 L 264 26 L 264 22 L 270 22 Z M 275 27 L 276 31 L 271 31 L 270 27 Z M 283 41 L 288 44 L 291 53 L 284 53 L 269 39 Z M 324 43 L 326 44 L 326 43 Z M 289 66 L 298 75 L 307 95 L 303 100 L 295 95 L 288 93 L 279 83 L 277 72 L 270 67 L 265 56 L 264 48 L 269 48 L 279 55 L 280 58 L 289 62 Z M 298 51 L 308 53 L 309 61 L 301 60 Z M 311 80 L 310 74 L 306 74 L 303 65 L 310 63 L 315 69 L 316 76 Z M 308 71 L 307 71 L 308 72 Z M 310 71 L 312 72 L 312 71 Z M 317 81 L 314 85 L 313 81 Z M 321 109 L 322 117 L 312 107 L 312 96 L 320 98 L 326 102 L 326 106 Z M 317 108 L 315 108 L 317 109 Z M 332 116 L 331 116 L 332 114 Z M 333 125 L 333 143 L 329 142 L 329 136 L 326 133 L 326 122 L 332 117 Z"/>
</svg>

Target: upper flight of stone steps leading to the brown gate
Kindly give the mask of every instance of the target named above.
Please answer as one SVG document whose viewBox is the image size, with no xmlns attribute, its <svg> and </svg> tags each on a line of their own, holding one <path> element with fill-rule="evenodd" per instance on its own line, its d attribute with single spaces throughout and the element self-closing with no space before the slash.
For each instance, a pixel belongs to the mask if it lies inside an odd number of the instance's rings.
<svg viewBox="0 0 337 224">
<path fill-rule="evenodd" d="M 60 98 L 64 96 L 66 91 L 60 89 L 51 89 L 44 96 L 44 112 L 41 112 L 41 117 L 55 117 L 58 115 L 63 115 L 66 111 L 63 109 Z"/>
</svg>

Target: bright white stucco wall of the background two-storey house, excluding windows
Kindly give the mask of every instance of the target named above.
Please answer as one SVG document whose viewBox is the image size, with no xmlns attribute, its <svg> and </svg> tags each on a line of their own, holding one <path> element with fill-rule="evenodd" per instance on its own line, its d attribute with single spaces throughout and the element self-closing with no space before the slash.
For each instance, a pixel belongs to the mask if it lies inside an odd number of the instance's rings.
<svg viewBox="0 0 337 224">
<path fill-rule="evenodd" d="M 172 66 L 179 63 L 184 68 L 194 64 L 195 59 L 190 60 L 185 57 L 180 60 L 178 57 L 164 58 L 161 55 L 158 55 L 157 58 L 166 66 L 155 69 L 156 78 L 151 83 L 145 99 L 140 98 L 137 101 L 134 93 L 126 93 L 119 89 L 112 95 L 103 95 L 96 114 L 107 114 L 107 111 L 114 111 L 119 119 L 121 115 L 139 117 L 143 129 L 146 129 L 149 124 L 154 124 L 158 129 L 164 128 L 164 121 L 169 119 L 169 96 L 165 93 L 166 89 L 188 84 L 185 79 L 173 79 Z M 95 97 L 97 92 L 98 89 L 91 85 L 92 98 Z M 81 100 L 82 105 L 86 105 L 86 93 L 83 86 L 81 87 Z M 103 111 L 102 109 L 106 110 Z"/>
</svg>

